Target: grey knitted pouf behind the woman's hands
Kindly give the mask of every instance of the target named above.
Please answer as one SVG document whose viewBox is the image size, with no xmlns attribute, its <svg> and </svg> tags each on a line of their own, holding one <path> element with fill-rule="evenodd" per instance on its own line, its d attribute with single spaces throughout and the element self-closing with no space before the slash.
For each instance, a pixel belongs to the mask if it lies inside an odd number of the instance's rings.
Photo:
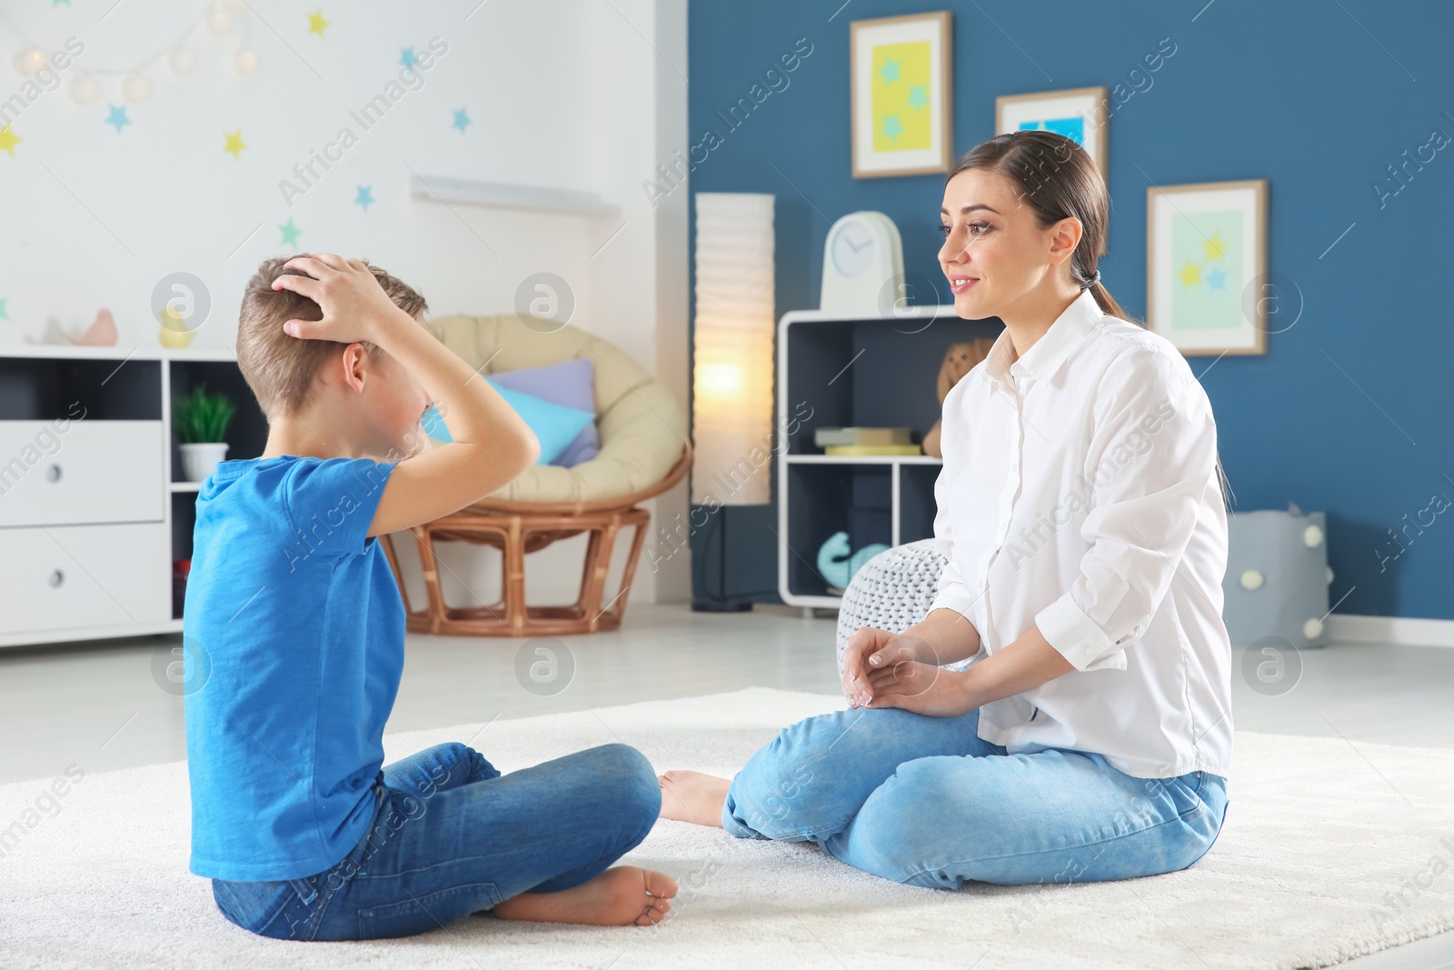
<svg viewBox="0 0 1454 970">
<path fill-rule="evenodd" d="M 944 557 L 933 550 L 931 538 L 884 550 L 853 573 L 838 608 L 840 675 L 843 647 L 859 627 L 903 633 L 929 615 L 942 569 Z"/>
</svg>

